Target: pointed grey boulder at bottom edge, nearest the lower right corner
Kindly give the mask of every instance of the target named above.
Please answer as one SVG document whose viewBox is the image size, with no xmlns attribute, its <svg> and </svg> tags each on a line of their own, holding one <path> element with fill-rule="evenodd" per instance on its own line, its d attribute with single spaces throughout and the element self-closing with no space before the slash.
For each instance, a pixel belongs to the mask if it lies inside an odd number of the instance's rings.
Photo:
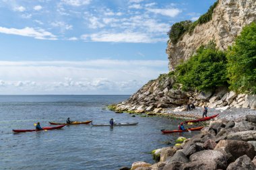
<svg viewBox="0 0 256 170">
<path fill-rule="evenodd" d="M 236 159 L 236 161 L 234 161 L 234 163 L 230 163 L 230 165 L 228 165 L 227 170 L 233 170 L 233 169 L 255 170 L 256 166 L 253 164 L 253 162 L 247 155 L 243 155 L 242 157 L 239 157 L 238 159 Z"/>
</svg>

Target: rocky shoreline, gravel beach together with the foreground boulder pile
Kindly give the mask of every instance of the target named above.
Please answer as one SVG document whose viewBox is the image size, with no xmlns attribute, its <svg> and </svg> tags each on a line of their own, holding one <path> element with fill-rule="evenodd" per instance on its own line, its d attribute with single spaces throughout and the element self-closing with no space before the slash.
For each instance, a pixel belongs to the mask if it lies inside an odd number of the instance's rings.
<svg viewBox="0 0 256 170">
<path fill-rule="evenodd" d="M 174 110 L 175 108 L 162 109 L 158 113 L 142 113 L 139 110 L 123 112 L 182 121 L 202 118 L 201 107 L 182 112 L 174 112 Z M 120 110 L 116 111 L 120 113 Z M 234 169 L 234 167 L 256 169 L 256 110 L 209 108 L 207 116 L 214 114 L 219 116 L 205 122 L 205 128 L 199 134 L 185 139 L 181 144 L 156 149 L 156 153 L 152 155 L 159 158 L 157 163 L 150 164 L 138 160 L 131 165 L 131 170 Z"/>
</svg>

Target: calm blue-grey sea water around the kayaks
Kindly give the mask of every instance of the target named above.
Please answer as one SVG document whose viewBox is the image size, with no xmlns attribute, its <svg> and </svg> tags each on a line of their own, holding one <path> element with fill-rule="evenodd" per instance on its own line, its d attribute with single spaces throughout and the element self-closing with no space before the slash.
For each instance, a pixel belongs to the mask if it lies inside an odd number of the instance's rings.
<svg viewBox="0 0 256 170">
<path fill-rule="evenodd" d="M 164 118 L 131 117 L 104 110 L 129 95 L 0 95 L 0 169 L 119 169 L 135 161 L 154 163 L 150 151 L 170 146 L 178 122 Z M 33 129 L 34 123 L 93 120 L 94 124 L 139 122 L 137 126 L 65 126 L 61 130 L 13 134 L 12 129 Z M 185 134 L 193 135 L 193 134 Z"/>
</svg>

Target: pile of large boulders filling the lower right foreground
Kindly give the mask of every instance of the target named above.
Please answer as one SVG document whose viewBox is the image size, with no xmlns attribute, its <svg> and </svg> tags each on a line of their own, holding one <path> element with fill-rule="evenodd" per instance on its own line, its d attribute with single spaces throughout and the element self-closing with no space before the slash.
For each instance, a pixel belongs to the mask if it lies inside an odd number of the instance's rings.
<svg viewBox="0 0 256 170">
<path fill-rule="evenodd" d="M 180 146 L 158 150 L 158 163 L 136 162 L 131 169 L 256 169 L 255 121 L 256 116 L 251 115 L 235 121 L 212 121 Z"/>
</svg>

